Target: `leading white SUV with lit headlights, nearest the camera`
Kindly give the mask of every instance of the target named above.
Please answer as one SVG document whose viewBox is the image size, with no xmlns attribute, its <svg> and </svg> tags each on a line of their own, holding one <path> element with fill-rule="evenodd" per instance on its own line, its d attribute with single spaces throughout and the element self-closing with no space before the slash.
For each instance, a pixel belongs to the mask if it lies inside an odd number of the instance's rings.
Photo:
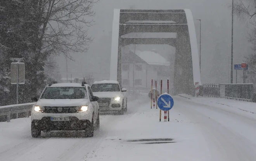
<svg viewBox="0 0 256 161">
<path fill-rule="evenodd" d="M 98 97 L 93 96 L 85 83 L 57 83 L 45 87 L 31 110 L 31 135 L 39 137 L 41 131 L 85 130 L 93 137 L 94 128 L 100 126 Z"/>
</svg>

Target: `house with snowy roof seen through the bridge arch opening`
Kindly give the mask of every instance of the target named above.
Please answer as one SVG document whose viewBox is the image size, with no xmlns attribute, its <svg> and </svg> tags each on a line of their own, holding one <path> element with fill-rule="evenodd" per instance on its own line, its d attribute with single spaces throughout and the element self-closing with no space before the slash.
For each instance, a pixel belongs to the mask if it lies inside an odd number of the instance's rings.
<svg viewBox="0 0 256 161">
<path fill-rule="evenodd" d="M 141 87 L 151 88 L 151 80 L 161 79 L 163 84 L 170 80 L 170 61 L 154 51 L 123 51 L 122 57 L 122 86 L 125 88 Z"/>
</svg>

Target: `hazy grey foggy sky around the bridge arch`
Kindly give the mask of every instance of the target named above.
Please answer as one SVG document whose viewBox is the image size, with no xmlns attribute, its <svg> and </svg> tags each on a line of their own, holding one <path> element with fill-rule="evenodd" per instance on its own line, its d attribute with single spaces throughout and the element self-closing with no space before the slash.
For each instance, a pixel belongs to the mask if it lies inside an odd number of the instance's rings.
<svg viewBox="0 0 256 161">
<path fill-rule="evenodd" d="M 131 5 L 135 9 L 189 8 L 194 17 L 198 45 L 199 21 L 195 19 L 202 19 L 202 83 L 228 83 L 231 68 L 228 64 L 228 56 L 231 56 L 231 3 L 232 0 L 101 0 L 93 7 L 96 12 L 93 17 L 95 25 L 89 29 L 94 41 L 88 53 L 73 54 L 76 62 L 68 61 L 68 70 L 78 72 L 72 73 L 77 77 L 86 75 L 86 72 L 109 73 L 111 36 L 109 38 L 108 35 L 112 31 L 114 8 L 130 8 Z M 250 52 L 247 32 L 246 22 L 235 16 L 234 63 L 241 63 Z M 58 62 L 61 71 L 66 71 L 65 59 L 61 56 Z M 235 71 L 233 72 L 235 82 Z M 66 77 L 66 73 L 61 74 Z M 238 74 L 238 83 L 242 83 L 242 71 L 238 71 Z"/>
</svg>

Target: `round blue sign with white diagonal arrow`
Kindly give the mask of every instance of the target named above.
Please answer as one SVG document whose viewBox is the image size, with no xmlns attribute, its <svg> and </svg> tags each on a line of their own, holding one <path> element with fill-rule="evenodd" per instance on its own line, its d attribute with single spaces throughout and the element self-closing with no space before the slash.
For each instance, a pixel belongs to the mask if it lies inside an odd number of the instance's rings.
<svg viewBox="0 0 256 161">
<path fill-rule="evenodd" d="M 163 111 L 169 111 L 171 108 L 173 108 L 173 104 L 173 98 L 168 93 L 160 95 L 157 99 L 157 105 Z"/>
</svg>

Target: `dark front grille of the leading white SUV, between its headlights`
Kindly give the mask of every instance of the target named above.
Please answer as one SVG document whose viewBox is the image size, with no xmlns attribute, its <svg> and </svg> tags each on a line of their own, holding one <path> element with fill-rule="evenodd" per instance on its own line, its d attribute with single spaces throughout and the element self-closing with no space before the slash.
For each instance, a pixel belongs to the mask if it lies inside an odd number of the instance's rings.
<svg viewBox="0 0 256 161">
<path fill-rule="evenodd" d="M 45 107 L 43 113 L 50 114 L 67 114 L 67 113 L 78 113 L 76 107 Z"/>
</svg>

